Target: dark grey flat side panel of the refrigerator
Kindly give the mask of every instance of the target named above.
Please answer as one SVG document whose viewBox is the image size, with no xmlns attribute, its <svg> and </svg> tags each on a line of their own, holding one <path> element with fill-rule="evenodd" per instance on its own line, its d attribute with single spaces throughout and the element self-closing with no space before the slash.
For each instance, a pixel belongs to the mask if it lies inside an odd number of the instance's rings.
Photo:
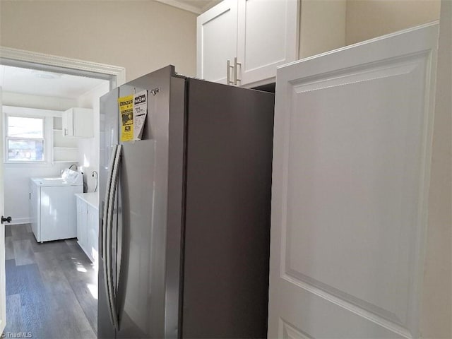
<svg viewBox="0 0 452 339">
<path fill-rule="evenodd" d="M 266 338 L 272 93 L 189 79 L 183 338 Z"/>
</svg>

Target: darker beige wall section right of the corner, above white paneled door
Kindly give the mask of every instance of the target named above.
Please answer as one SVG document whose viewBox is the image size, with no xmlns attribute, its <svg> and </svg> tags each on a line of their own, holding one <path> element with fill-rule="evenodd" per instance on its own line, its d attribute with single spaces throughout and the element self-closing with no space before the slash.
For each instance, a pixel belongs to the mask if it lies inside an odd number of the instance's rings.
<svg viewBox="0 0 452 339">
<path fill-rule="evenodd" d="M 345 43 L 439 19 L 439 0 L 347 0 Z"/>
</svg>

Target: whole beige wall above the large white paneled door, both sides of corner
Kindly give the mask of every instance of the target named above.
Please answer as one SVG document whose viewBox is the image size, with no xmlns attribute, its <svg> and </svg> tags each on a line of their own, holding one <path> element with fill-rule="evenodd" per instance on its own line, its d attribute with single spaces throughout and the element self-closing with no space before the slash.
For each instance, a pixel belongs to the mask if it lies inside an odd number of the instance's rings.
<svg viewBox="0 0 452 339">
<path fill-rule="evenodd" d="M 439 19 L 440 0 L 301 0 L 299 58 Z"/>
</svg>

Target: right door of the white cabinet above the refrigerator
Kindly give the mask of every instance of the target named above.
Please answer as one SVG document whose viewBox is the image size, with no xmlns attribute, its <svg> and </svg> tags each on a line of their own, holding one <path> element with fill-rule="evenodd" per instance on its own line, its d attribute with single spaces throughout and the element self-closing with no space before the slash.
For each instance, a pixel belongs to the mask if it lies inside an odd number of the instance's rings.
<svg viewBox="0 0 452 339">
<path fill-rule="evenodd" d="M 239 0 L 238 85 L 273 82 L 277 66 L 297 59 L 298 16 L 298 0 Z"/>
</svg>

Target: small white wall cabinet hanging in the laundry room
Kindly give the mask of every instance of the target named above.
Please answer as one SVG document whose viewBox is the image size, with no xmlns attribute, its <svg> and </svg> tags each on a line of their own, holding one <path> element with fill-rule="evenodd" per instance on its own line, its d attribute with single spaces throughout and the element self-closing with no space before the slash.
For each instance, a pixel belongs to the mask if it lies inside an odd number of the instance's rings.
<svg viewBox="0 0 452 339">
<path fill-rule="evenodd" d="M 73 107 L 63 112 L 63 136 L 92 138 L 93 109 Z"/>
</svg>

